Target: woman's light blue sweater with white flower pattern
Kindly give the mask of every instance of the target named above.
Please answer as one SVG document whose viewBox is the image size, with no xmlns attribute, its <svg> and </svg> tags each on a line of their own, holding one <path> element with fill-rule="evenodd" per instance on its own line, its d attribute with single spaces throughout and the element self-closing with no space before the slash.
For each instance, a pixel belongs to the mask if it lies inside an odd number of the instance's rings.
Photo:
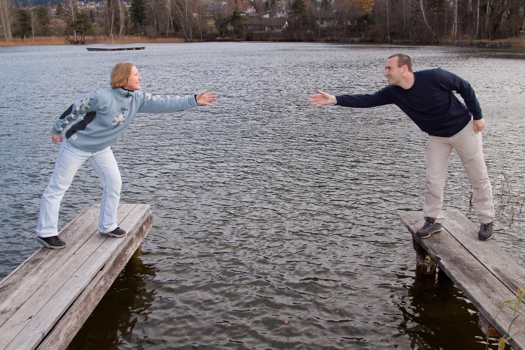
<svg viewBox="0 0 525 350">
<path fill-rule="evenodd" d="M 56 135 L 66 133 L 68 142 L 80 150 L 97 152 L 115 142 L 137 113 L 171 113 L 196 105 L 195 96 L 159 96 L 121 88 L 95 90 L 71 104 L 52 131 Z"/>
</svg>

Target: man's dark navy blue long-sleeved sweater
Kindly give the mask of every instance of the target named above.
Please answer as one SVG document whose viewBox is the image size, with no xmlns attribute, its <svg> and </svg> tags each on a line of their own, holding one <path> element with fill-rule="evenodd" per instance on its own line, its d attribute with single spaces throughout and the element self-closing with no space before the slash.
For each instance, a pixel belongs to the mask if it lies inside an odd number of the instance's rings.
<svg viewBox="0 0 525 350">
<path fill-rule="evenodd" d="M 367 108 L 394 103 L 419 129 L 432 136 L 450 137 L 461 131 L 473 117 L 483 118 L 470 84 L 441 68 L 414 72 L 409 89 L 388 85 L 373 94 L 336 96 L 343 107 Z M 465 101 L 461 103 L 452 91 Z"/>
</svg>

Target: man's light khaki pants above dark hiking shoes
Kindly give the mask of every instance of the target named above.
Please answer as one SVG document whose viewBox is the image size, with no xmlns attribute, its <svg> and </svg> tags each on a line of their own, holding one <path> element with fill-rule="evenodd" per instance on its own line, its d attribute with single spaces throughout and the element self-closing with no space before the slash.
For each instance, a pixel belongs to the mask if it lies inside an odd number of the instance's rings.
<svg viewBox="0 0 525 350">
<path fill-rule="evenodd" d="M 423 216 L 434 218 L 436 222 L 443 222 L 444 217 L 441 214 L 443 188 L 448 161 L 453 149 L 456 149 L 467 173 L 468 181 L 472 185 L 472 204 L 476 208 L 478 219 L 481 224 L 488 224 L 494 219 L 492 187 L 483 158 L 481 133 L 474 132 L 472 120 L 454 136 L 428 136 L 425 150 L 427 172 Z"/>
</svg>

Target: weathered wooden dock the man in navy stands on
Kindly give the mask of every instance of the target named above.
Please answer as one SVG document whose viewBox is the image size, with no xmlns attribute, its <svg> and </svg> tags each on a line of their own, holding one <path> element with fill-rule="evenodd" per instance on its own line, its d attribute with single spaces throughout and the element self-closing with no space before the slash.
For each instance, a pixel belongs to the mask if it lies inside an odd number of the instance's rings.
<svg viewBox="0 0 525 350">
<path fill-rule="evenodd" d="M 421 212 L 405 213 L 401 221 L 412 234 L 416 250 L 416 273 L 431 274 L 436 266 L 454 281 L 479 311 L 479 323 L 485 334 L 507 334 L 513 320 L 512 311 L 503 309 L 503 302 L 515 300 L 518 287 L 525 285 L 525 268 L 498 246 L 495 239 L 480 241 L 479 226 L 457 210 L 444 211 L 443 229 L 421 239 L 415 232 L 425 221 Z M 523 303 L 525 306 L 525 303 Z M 525 317 L 514 322 L 510 334 L 525 326 Z M 498 334 L 499 333 L 499 334 Z M 512 338 L 514 350 L 525 349 L 525 332 Z"/>
</svg>

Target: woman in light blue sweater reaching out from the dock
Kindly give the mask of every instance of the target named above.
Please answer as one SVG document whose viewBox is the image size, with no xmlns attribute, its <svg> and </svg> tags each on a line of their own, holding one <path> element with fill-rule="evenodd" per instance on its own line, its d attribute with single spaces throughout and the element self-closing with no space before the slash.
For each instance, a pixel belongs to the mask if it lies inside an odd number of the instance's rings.
<svg viewBox="0 0 525 350">
<path fill-rule="evenodd" d="M 111 89 L 96 90 L 78 100 L 53 125 L 53 142 L 62 142 L 64 134 L 67 141 L 60 145 L 55 170 L 40 203 L 36 234 L 38 242 L 45 247 L 66 246 L 58 237 L 60 201 L 86 160 L 95 168 L 102 184 L 99 232 L 112 237 L 127 235 L 117 225 L 122 181 L 110 145 L 124 133 L 137 113 L 171 113 L 197 104 L 211 106 L 209 102 L 216 99 L 215 92 L 205 91 L 194 96 L 155 96 L 139 91 L 141 80 L 133 63 L 118 62 L 111 70 Z M 81 115 L 83 118 L 77 121 Z"/>
</svg>

